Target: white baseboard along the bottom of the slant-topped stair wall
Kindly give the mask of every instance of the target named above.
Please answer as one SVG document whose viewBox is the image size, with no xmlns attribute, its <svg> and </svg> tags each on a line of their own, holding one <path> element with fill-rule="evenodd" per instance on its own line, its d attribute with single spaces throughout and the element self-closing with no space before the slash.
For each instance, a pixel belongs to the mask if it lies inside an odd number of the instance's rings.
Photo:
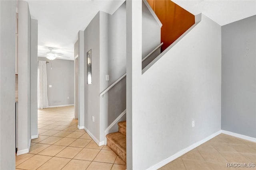
<svg viewBox="0 0 256 170">
<path fill-rule="evenodd" d="M 214 133 L 214 134 L 212 134 L 212 135 L 210 135 L 210 136 L 208 136 L 208 137 L 206 137 L 206 138 L 204 138 L 203 140 L 201 140 L 201 141 L 199 141 L 199 142 L 197 142 L 197 143 L 194 143 L 194 144 L 190 145 L 189 147 L 187 147 L 187 148 L 185 148 L 185 149 L 180 150 L 180 151 L 177 152 L 176 154 L 174 154 L 174 155 L 172 155 L 172 156 L 170 156 L 170 157 L 168 157 L 168 158 L 166 158 L 166 159 L 164 159 L 164 160 L 162 160 L 162 161 L 160 161 L 160 162 L 154 164 L 153 166 L 149 167 L 147 170 L 156 170 L 156 169 L 158 169 L 158 168 L 161 168 L 162 166 L 168 164 L 168 163 L 171 162 L 172 160 L 174 160 L 174 159 L 176 159 L 176 158 L 182 156 L 182 155 L 185 154 L 186 152 L 189 152 L 190 150 L 195 149 L 195 148 L 198 147 L 199 145 L 202 145 L 203 143 L 205 143 L 205 142 L 209 141 L 210 139 L 216 137 L 216 136 L 219 135 L 220 133 L 222 133 L 221 130 L 218 131 L 218 132 L 216 132 L 216 133 Z"/>
</svg>

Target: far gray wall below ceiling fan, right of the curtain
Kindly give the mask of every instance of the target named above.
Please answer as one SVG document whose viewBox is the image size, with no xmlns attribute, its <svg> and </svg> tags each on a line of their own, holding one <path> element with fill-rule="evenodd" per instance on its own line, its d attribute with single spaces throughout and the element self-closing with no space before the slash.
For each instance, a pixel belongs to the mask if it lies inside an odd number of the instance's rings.
<svg viewBox="0 0 256 170">
<path fill-rule="evenodd" d="M 45 57 L 38 57 L 39 60 L 49 62 L 46 63 L 49 106 L 74 104 L 74 61 L 50 61 Z M 52 87 L 49 88 L 49 85 Z"/>
</svg>

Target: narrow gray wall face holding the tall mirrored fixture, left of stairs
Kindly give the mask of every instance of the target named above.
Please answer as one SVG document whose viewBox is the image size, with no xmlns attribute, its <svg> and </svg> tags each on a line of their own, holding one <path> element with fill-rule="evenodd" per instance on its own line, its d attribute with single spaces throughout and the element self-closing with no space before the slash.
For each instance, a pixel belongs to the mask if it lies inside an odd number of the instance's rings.
<svg viewBox="0 0 256 170">
<path fill-rule="evenodd" d="M 92 19 L 84 30 L 84 55 L 92 49 L 92 84 L 85 84 L 85 110 L 84 124 L 97 140 L 100 139 L 100 12 Z M 87 70 L 86 60 L 84 70 Z M 92 116 L 95 121 L 92 122 Z M 96 141 L 98 142 L 98 141 Z"/>
</svg>

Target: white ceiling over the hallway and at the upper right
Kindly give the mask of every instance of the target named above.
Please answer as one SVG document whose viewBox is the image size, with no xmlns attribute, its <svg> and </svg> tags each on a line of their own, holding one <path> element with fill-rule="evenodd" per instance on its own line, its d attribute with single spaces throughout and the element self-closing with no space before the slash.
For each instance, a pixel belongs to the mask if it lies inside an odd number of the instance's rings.
<svg viewBox="0 0 256 170">
<path fill-rule="evenodd" d="M 31 17 L 38 20 L 38 56 L 53 47 L 74 60 L 77 33 L 99 10 L 113 14 L 124 0 L 27 0 Z M 203 13 L 219 25 L 256 15 L 256 0 L 173 0 L 196 15 Z"/>
</svg>

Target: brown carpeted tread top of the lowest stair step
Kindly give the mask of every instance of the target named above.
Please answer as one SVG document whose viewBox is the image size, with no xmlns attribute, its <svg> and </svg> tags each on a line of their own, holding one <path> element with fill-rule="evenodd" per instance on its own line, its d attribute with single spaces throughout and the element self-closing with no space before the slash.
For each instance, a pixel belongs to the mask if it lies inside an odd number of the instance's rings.
<svg viewBox="0 0 256 170">
<path fill-rule="evenodd" d="M 115 145 L 121 149 L 122 151 L 126 152 L 126 136 L 124 136 L 120 132 L 109 133 L 106 135 L 107 139 L 115 143 Z"/>
</svg>

